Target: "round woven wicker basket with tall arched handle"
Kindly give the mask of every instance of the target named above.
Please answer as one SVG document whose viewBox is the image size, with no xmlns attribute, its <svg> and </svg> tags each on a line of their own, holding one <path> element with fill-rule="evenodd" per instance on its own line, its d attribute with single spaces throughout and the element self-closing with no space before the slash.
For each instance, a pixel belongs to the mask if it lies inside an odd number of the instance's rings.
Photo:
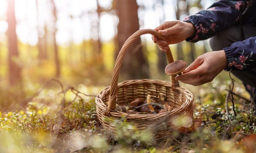
<svg viewBox="0 0 256 153">
<path fill-rule="evenodd" d="M 119 70 L 128 46 L 143 34 L 151 34 L 160 40 L 164 40 L 161 34 L 152 29 L 139 30 L 126 40 L 116 59 L 111 86 L 103 89 L 96 96 L 97 117 L 102 126 L 109 130 L 113 136 L 116 136 L 114 119 L 124 118 L 126 122 L 132 122 L 139 130 L 145 130 L 150 127 L 156 139 L 169 136 L 173 130 L 185 132 L 192 125 L 193 95 L 186 88 L 179 86 L 179 83 L 174 79 L 175 76 L 171 76 L 171 82 L 155 79 L 137 79 L 118 83 Z M 169 63 L 174 61 L 170 48 L 168 48 L 166 56 Z M 119 105 L 129 105 L 134 99 L 146 98 L 148 94 L 153 98 L 157 98 L 160 93 L 167 96 L 168 101 L 172 102 L 172 107 L 175 109 L 158 114 L 128 114 L 115 110 L 116 102 Z M 108 107 L 105 105 L 106 102 L 108 102 Z M 180 124 L 176 123 L 177 120 L 183 121 Z"/>
</svg>

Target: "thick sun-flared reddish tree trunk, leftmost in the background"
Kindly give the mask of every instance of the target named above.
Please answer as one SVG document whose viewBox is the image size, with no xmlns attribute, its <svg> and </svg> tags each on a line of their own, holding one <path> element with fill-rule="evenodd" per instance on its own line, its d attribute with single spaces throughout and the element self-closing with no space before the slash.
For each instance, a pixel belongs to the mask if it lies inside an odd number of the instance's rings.
<svg viewBox="0 0 256 153">
<path fill-rule="evenodd" d="M 14 61 L 18 57 L 18 47 L 17 47 L 17 34 L 16 34 L 16 19 L 15 19 L 15 0 L 8 0 L 7 8 L 7 22 L 8 22 L 8 41 L 9 41 L 9 83 L 10 85 L 15 85 L 21 82 L 21 68 Z"/>
</svg>

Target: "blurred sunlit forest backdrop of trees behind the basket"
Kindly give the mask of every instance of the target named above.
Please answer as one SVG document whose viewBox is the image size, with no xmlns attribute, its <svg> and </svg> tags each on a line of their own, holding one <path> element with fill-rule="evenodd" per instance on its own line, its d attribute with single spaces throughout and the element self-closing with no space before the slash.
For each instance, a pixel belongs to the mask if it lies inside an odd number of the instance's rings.
<svg viewBox="0 0 256 153">
<path fill-rule="evenodd" d="M 75 86 L 110 85 L 116 56 L 131 34 L 165 21 L 183 20 L 212 2 L 0 0 L 1 88 L 21 85 L 21 90 L 33 91 L 51 78 Z M 175 59 L 188 64 L 209 51 L 207 41 L 180 42 L 170 48 Z M 151 35 L 143 35 L 125 55 L 119 80 L 164 79 L 166 64 L 166 55 Z"/>
</svg>

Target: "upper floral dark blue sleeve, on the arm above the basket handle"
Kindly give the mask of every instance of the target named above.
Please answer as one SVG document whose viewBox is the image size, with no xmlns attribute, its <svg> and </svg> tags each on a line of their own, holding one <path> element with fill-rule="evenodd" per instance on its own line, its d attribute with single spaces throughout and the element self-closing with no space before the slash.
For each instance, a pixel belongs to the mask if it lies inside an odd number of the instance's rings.
<svg viewBox="0 0 256 153">
<path fill-rule="evenodd" d="M 186 41 L 206 40 L 237 23 L 243 10 L 243 3 L 236 0 L 220 0 L 206 10 L 186 17 L 183 21 L 192 23 L 196 28 L 196 34 Z"/>
</svg>

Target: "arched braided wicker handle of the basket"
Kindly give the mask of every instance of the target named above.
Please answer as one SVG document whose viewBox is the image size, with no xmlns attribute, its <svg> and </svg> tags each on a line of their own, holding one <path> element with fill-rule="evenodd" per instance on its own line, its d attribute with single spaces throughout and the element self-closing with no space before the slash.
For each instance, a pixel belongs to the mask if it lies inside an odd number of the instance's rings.
<svg viewBox="0 0 256 153">
<path fill-rule="evenodd" d="M 122 46 L 122 48 L 119 51 L 119 54 L 116 58 L 116 63 L 115 63 L 115 67 L 113 70 L 113 77 L 112 77 L 112 81 L 111 81 L 110 94 L 109 94 L 109 98 L 108 98 L 108 108 L 105 111 L 106 116 L 108 116 L 108 114 L 111 111 L 116 109 L 116 94 L 118 91 L 118 87 L 117 87 L 118 77 L 119 77 L 119 71 L 120 71 L 120 67 L 122 65 L 122 60 L 125 56 L 125 53 L 128 50 L 128 47 L 131 44 L 131 42 L 133 42 L 136 38 L 140 37 L 143 34 L 151 34 L 151 35 L 154 35 L 155 37 L 157 37 L 157 39 L 159 39 L 159 40 L 165 40 L 164 37 L 160 33 L 158 33 L 156 30 L 141 29 L 141 30 L 136 31 L 125 41 L 124 45 Z M 172 57 L 172 52 L 171 52 L 169 46 L 166 51 L 166 56 L 167 56 L 169 63 L 174 62 L 173 57 Z M 178 81 L 175 80 L 175 76 L 171 76 L 171 82 L 172 82 L 173 89 L 175 89 L 175 86 L 179 85 Z"/>
</svg>

